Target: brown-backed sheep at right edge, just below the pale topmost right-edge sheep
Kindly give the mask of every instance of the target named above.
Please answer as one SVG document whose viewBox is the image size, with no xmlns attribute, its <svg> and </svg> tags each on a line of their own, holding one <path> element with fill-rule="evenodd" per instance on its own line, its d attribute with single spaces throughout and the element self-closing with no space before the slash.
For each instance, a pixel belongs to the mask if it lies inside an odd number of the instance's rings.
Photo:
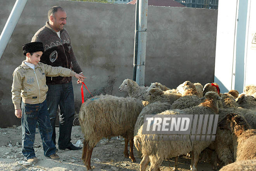
<svg viewBox="0 0 256 171">
<path fill-rule="evenodd" d="M 244 109 L 256 111 L 256 98 L 251 95 L 240 94 L 236 99 L 237 104 Z"/>
</svg>

